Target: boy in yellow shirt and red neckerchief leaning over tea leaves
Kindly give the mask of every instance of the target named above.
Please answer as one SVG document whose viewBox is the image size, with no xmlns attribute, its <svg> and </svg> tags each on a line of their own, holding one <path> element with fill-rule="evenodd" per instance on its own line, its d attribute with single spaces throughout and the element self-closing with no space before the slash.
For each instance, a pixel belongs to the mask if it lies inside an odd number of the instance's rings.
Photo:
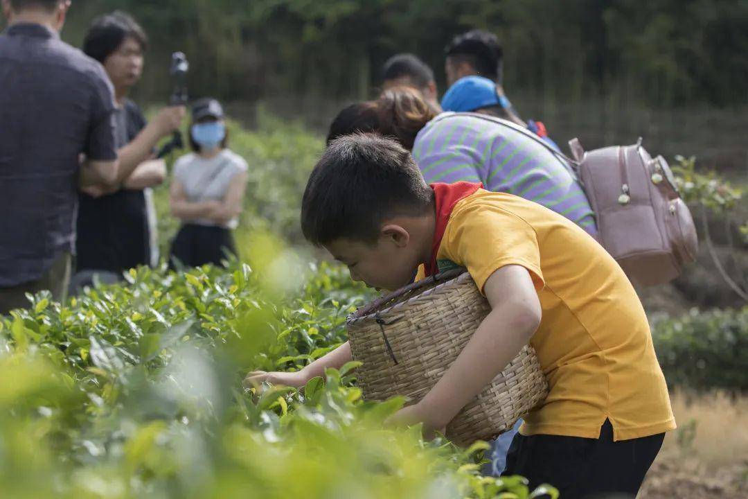
<svg viewBox="0 0 748 499">
<path fill-rule="evenodd" d="M 377 135 L 334 141 L 307 183 L 304 236 L 355 281 L 395 290 L 464 266 L 491 304 L 456 361 L 394 420 L 444 428 L 528 341 L 550 393 L 525 417 L 504 474 L 562 497 L 637 494 L 675 429 L 643 307 L 584 230 L 539 204 L 477 184 L 427 186 L 410 154 Z M 298 373 L 249 380 L 300 386 L 351 358 L 348 343 Z"/>
</svg>

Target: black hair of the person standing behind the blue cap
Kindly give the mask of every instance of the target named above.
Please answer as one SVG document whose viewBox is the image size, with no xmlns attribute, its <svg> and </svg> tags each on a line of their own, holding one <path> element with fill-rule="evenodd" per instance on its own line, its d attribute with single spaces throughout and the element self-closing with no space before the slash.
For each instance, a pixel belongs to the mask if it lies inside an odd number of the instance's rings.
<svg viewBox="0 0 748 499">
<path fill-rule="evenodd" d="M 459 34 L 453 38 L 445 52 L 448 58 L 456 62 L 465 61 L 480 76 L 501 84 L 503 49 L 495 34 L 480 29 Z"/>
</svg>

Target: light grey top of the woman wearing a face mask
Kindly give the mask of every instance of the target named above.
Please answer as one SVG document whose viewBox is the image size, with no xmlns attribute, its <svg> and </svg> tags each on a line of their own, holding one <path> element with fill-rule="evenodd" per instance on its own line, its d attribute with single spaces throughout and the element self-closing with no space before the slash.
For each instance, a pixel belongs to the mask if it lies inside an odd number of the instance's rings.
<svg viewBox="0 0 748 499">
<path fill-rule="evenodd" d="M 236 175 L 247 169 L 244 158 L 228 149 L 221 150 L 211 159 L 190 153 L 177 159 L 174 164 L 174 180 L 182 184 L 187 200 L 191 203 L 221 201 L 236 181 Z M 239 218 L 232 218 L 225 224 L 216 224 L 215 221 L 206 219 L 191 220 L 190 223 L 235 229 Z"/>
</svg>

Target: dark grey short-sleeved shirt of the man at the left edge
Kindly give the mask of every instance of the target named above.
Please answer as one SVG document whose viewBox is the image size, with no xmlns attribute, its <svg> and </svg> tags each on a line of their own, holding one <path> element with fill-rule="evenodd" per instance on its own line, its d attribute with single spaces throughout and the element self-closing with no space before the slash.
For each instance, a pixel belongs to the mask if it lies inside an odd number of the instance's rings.
<svg viewBox="0 0 748 499">
<path fill-rule="evenodd" d="M 0 34 L 0 287 L 74 253 L 79 155 L 117 158 L 101 64 L 42 25 Z"/>
</svg>

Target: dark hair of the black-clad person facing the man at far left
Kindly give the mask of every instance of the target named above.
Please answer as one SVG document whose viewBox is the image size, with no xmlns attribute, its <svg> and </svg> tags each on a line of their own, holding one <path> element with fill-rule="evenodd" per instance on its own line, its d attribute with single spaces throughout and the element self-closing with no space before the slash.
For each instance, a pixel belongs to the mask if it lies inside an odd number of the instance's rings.
<svg viewBox="0 0 748 499">
<path fill-rule="evenodd" d="M 147 49 L 148 37 L 141 25 L 129 14 L 117 10 L 93 19 L 83 41 L 83 52 L 104 64 L 106 58 L 117 52 L 126 38 L 135 39 L 144 52 Z"/>
</svg>

